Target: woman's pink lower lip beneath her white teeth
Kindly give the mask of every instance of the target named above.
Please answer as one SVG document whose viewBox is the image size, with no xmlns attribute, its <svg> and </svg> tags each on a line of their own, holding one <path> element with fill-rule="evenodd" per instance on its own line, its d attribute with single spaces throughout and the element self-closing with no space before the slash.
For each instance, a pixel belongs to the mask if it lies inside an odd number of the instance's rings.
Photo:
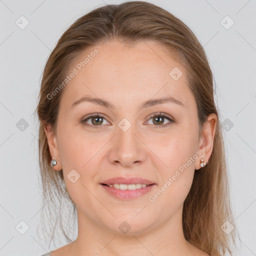
<svg viewBox="0 0 256 256">
<path fill-rule="evenodd" d="M 110 187 L 110 186 L 107 186 L 107 185 L 102 185 L 102 184 L 100 184 L 100 185 L 103 186 L 103 188 L 109 194 L 113 195 L 116 198 L 119 198 L 119 199 L 132 199 L 132 198 L 139 197 L 139 196 L 141 196 L 141 195 L 143 195 L 145 193 L 148 193 L 155 184 L 152 184 L 152 185 L 149 185 L 149 186 L 146 186 L 146 187 L 141 187 L 141 188 L 134 189 L 134 190 L 128 190 L 128 189 L 121 190 L 121 189 L 116 189 L 113 186 Z"/>
</svg>

